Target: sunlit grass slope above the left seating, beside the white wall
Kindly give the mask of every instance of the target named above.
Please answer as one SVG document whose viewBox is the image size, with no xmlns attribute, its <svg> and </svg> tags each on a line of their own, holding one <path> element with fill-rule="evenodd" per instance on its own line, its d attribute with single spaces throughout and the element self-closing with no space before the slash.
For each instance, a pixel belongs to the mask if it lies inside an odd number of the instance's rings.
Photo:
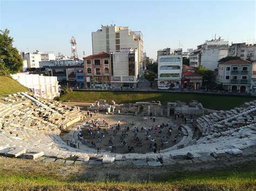
<svg viewBox="0 0 256 191">
<path fill-rule="evenodd" d="M 11 77 L 0 76 L 0 97 L 21 91 L 28 91 L 28 88 Z"/>
</svg>

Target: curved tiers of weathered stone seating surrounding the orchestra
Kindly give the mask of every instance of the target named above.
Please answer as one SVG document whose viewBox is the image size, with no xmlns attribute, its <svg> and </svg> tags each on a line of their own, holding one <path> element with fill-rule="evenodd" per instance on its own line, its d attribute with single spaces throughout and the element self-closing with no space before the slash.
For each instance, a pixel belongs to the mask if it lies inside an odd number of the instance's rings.
<svg viewBox="0 0 256 191">
<path fill-rule="evenodd" d="M 159 158 L 163 164 L 170 164 L 187 157 L 201 161 L 210 158 L 215 160 L 211 155 L 219 157 L 221 154 L 241 154 L 242 150 L 256 144 L 256 120 L 249 115 L 255 109 L 254 101 L 228 112 L 221 111 L 198 118 L 197 123 L 203 131 L 205 130 L 205 136 L 197 142 L 192 140 L 190 127 L 183 125 L 182 130 L 187 136 L 184 136 L 175 149 L 167 148 L 159 154 L 116 154 L 107 151 L 96 154 L 96 150 L 85 145 L 81 149 L 70 147 L 59 137 L 58 125 L 72 121 L 76 115 L 82 117 L 83 114 L 79 109 L 69 108 L 55 101 L 40 102 L 35 97 L 32 97 L 33 99 L 31 97 L 25 94 L 13 94 L 2 99 L 5 103 L 0 103 L 0 139 L 2 140 L 0 154 L 14 157 L 26 154 L 34 158 L 35 155 L 43 153 L 47 157 L 63 159 L 76 155 L 78 160 L 84 161 L 137 160 L 137 163 L 144 161 L 142 164 L 150 165 L 150 162 Z M 237 117 L 234 121 L 230 122 L 235 116 Z M 247 119 L 246 123 L 241 122 L 242 119 Z M 134 164 L 140 165 L 136 162 Z"/>
</svg>

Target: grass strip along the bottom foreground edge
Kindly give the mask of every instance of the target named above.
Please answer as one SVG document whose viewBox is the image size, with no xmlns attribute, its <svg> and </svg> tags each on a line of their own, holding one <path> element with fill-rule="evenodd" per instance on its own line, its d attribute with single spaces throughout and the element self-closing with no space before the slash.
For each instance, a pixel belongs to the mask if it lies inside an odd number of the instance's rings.
<svg viewBox="0 0 256 191">
<path fill-rule="evenodd" d="M 173 176 L 174 177 L 174 176 Z M 214 175 L 192 174 L 183 178 L 177 174 L 176 178 L 161 182 L 117 182 L 111 180 L 86 182 L 64 181 L 44 175 L 2 175 L 0 176 L 0 189 L 14 190 L 255 190 L 256 172 L 218 173 Z"/>
</svg>

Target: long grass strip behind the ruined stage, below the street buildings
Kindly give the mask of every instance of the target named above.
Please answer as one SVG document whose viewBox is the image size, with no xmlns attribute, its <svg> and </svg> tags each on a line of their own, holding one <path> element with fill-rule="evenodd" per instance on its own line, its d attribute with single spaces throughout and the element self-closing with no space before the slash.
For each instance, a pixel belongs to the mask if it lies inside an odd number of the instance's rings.
<svg viewBox="0 0 256 191">
<path fill-rule="evenodd" d="M 96 100 L 110 100 L 116 103 L 135 103 L 142 101 L 160 101 L 161 103 L 183 101 L 189 102 L 197 100 L 203 104 L 204 108 L 215 110 L 228 110 L 246 101 L 255 100 L 249 96 L 231 95 L 209 95 L 191 93 L 167 93 L 167 92 L 131 92 L 131 91 L 73 91 L 69 95 L 63 95 L 60 100 L 70 100 L 71 102 L 93 103 Z"/>
</svg>

